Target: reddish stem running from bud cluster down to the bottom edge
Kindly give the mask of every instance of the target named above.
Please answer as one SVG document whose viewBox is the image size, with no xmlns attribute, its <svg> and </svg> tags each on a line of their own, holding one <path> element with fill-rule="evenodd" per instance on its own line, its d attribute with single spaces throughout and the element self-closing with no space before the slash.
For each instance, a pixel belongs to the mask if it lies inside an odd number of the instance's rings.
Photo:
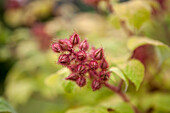
<svg viewBox="0 0 170 113">
<path fill-rule="evenodd" d="M 113 92 L 117 93 L 126 103 L 130 104 L 130 106 L 132 107 L 132 109 L 134 110 L 135 113 L 140 113 L 139 110 L 136 108 L 136 106 L 134 106 L 130 100 L 128 99 L 128 97 L 121 91 L 119 90 L 118 87 L 115 87 L 107 82 L 104 83 L 104 85 L 109 88 L 110 90 L 112 90 Z"/>
</svg>

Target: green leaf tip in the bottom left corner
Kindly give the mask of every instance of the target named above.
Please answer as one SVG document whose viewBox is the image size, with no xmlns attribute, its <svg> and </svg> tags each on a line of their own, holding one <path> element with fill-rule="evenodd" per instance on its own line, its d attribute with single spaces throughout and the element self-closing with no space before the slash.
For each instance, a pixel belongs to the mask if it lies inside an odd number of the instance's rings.
<svg viewBox="0 0 170 113">
<path fill-rule="evenodd" d="M 0 113 L 16 113 L 16 112 L 3 98 L 0 98 Z"/>
</svg>

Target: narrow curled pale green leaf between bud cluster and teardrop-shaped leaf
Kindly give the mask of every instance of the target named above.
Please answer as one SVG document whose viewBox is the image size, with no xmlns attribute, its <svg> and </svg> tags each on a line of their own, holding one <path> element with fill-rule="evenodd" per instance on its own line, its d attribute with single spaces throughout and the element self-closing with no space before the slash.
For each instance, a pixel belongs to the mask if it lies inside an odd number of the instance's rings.
<svg viewBox="0 0 170 113">
<path fill-rule="evenodd" d="M 116 75 L 118 75 L 122 80 L 124 80 L 125 91 L 127 91 L 127 88 L 129 86 L 129 81 L 128 81 L 126 75 L 117 67 L 111 67 L 109 70 L 112 71 L 113 73 L 115 73 Z"/>
</svg>

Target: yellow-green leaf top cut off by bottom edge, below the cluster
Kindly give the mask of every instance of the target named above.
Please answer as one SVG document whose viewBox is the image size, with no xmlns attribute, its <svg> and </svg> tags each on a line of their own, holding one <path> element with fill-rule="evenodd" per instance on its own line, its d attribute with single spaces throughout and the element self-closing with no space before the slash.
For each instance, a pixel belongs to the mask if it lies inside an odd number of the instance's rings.
<svg viewBox="0 0 170 113">
<path fill-rule="evenodd" d="M 104 107 L 81 107 L 73 110 L 68 110 L 66 113 L 108 113 Z"/>
</svg>

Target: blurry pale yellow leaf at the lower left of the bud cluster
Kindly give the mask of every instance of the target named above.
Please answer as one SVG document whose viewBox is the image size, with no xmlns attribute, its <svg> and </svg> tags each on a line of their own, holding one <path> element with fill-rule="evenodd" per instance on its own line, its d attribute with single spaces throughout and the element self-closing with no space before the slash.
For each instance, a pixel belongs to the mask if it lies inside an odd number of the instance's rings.
<svg viewBox="0 0 170 113">
<path fill-rule="evenodd" d="M 45 79 L 45 84 L 47 86 L 54 87 L 55 85 L 57 85 L 57 82 L 61 82 L 62 79 L 64 80 L 64 78 L 68 75 L 69 75 L 69 70 L 67 68 L 62 68 L 61 70 L 57 71 L 56 73 L 48 76 Z"/>
</svg>

